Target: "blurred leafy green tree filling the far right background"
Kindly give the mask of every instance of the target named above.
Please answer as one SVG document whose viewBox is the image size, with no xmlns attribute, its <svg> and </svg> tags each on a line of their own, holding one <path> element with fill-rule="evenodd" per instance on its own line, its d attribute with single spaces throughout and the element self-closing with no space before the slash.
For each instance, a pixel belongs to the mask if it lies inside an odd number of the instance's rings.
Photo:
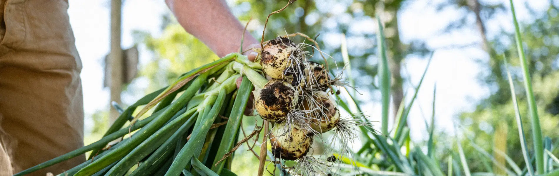
<svg viewBox="0 0 559 176">
<path fill-rule="evenodd" d="M 525 46 L 525 54 L 529 60 L 529 70 L 532 75 L 534 85 L 534 96 L 536 97 L 540 121 L 542 122 L 542 131 L 552 141 L 559 138 L 559 128 L 557 114 L 559 114 L 559 104 L 557 103 L 557 94 L 559 87 L 559 26 L 553 25 L 559 22 L 558 17 L 559 4 L 551 1 L 551 6 L 547 11 L 541 13 L 530 9 L 530 14 L 534 16 L 532 23 L 524 24 L 523 40 Z M 523 117 L 523 126 L 526 134 L 532 133 L 530 129 L 530 116 L 527 113 L 527 103 L 525 90 L 522 86 L 523 79 L 519 66 L 517 48 L 511 45 L 510 41 L 514 41 L 513 33 L 505 31 L 500 32 L 501 37 L 496 37 L 489 41 L 494 46 L 492 60 L 497 66 L 489 65 L 491 74 L 481 75 L 480 80 L 486 82 L 487 86 L 492 87 L 492 94 L 485 100 L 479 102 L 476 110 L 471 113 L 463 113 L 460 116 L 462 129 L 465 130 L 468 138 L 472 139 L 486 151 L 491 151 L 494 146 L 492 139 L 495 134 L 495 126 L 505 124 L 509 127 L 506 138 L 506 153 L 518 164 L 525 165 L 520 149 L 520 141 L 518 136 L 517 125 L 514 120 L 514 109 L 510 97 L 508 82 L 506 82 L 505 65 L 503 63 L 503 55 L 509 60 L 509 69 L 514 80 L 515 91 L 519 102 L 520 112 Z M 504 83 L 503 83 L 504 81 Z M 528 137 L 528 144 L 532 141 Z M 470 141 L 463 141 L 463 145 L 470 146 Z M 532 148 L 531 145 L 528 147 Z M 475 149 L 466 148 L 468 152 L 476 152 Z M 554 153 L 557 150 L 553 149 Z M 476 158 L 470 158 L 470 165 L 476 171 L 487 171 L 485 166 L 480 162 L 473 162 Z"/>
</svg>

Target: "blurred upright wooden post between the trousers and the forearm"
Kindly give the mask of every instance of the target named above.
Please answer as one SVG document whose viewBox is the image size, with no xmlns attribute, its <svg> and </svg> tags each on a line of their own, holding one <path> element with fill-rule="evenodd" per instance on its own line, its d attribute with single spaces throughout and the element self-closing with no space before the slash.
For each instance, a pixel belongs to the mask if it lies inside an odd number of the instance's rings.
<svg viewBox="0 0 559 176">
<path fill-rule="evenodd" d="M 119 117 L 119 112 L 111 107 L 111 102 L 115 101 L 120 104 L 122 91 L 121 6 L 121 0 L 111 0 L 111 52 L 109 53 L 110 62 L 108 62 L 111 73 L 111 100 L 109 102 L 111 123 Z"/>
</svg>

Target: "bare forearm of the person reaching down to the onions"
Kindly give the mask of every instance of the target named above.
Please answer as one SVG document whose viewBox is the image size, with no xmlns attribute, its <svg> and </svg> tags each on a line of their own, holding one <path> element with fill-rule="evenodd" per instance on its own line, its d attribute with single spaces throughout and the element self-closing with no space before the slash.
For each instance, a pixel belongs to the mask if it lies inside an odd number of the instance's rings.
<svg viewBox="0 0 559 176">
<path fill-rule="evenodd" d="M 204 42 L 217 56 L 238 52 L 244 26 L 229 11 L 223 0 L 165 0 L 178 22 Z M 245 33 L 243 48 L 259 43 Z"/>
</svg>

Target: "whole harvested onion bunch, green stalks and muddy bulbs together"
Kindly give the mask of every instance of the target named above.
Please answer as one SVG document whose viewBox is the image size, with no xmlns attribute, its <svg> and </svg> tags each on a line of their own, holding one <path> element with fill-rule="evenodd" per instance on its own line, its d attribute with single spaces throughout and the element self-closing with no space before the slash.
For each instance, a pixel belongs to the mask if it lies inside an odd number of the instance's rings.
<svg viewBox="0 0 559 176">
<path fill-rule="evenodd" d="M 234 175 L 227 168 L 247 104 L 272 123 L 266 143 L 275 163 L 295 160 L 298 164 L 290 169 L 292 173 L 327 174 L 326 159 L 307 154 L 313 141 L 342 141 L 341 148 L 347 151 L 348 140 L 355 138 L 353 126 L 367 124 L 340 119 L 333 87 L 343 83 L 323 65 L 308 61 L 312 56 L 305 46 L 310 45 L 278 37 L 257 50 L 260 55 L 255 62 L 230 53 L 187 72 L 129 106 L 102 139 L 16 175 L 88 151 L 92 151 L 89 160 L 60 175 Z M 254 102 L 249 102 L 250 94 Z M 133 118 L 140 105 L 145 106 Z M 140 118 L 150 109 L 153 113 Z M 123 127 L 127 121 L 130 125 Z M 330 130 L 335 139 L 323 140 L 322 133 Z M 115 140 L 119 142 L 109 144 Z"/>
</svg>

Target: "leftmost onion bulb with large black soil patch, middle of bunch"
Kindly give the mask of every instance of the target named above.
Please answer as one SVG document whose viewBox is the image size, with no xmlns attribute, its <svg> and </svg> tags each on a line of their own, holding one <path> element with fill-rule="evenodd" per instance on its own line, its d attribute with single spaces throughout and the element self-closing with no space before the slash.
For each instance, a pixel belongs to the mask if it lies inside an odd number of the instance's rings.
<svg viewBox="0 0 559 176">
<path fill-rule="evenodd" d="M 262 119 L 272 122 L 285 118 L 299 101 L 295 88 L 282 80 L 270 80 L 257 96 L 254 108 Z"/>
</svg>

